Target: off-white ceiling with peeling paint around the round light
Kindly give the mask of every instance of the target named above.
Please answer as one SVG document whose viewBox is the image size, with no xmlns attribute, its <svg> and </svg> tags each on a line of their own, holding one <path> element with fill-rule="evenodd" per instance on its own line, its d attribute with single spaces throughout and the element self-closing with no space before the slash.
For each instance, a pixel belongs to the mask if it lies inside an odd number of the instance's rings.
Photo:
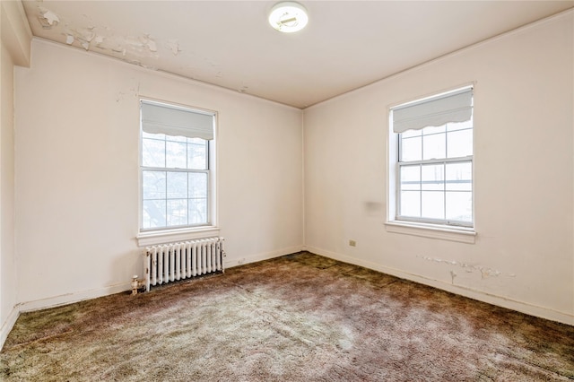
<svg viewBox="0 0 574 382">
<path fill-rule="evenodd" d="M 22 1 L 34 36 L 300 109 L 574 6 L 570 1 Z"/>
</svg>

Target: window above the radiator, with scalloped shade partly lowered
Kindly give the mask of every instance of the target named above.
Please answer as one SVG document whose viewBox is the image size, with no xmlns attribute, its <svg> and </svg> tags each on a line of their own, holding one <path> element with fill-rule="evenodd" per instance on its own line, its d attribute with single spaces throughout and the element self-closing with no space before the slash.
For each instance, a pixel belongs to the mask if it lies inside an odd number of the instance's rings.
<svg viewBox="0 0 574 382">
<path fill-rule="evenodd" d="M 141 102 L 140 231 L 213 224 L 214 114 Z"/>
</svg>

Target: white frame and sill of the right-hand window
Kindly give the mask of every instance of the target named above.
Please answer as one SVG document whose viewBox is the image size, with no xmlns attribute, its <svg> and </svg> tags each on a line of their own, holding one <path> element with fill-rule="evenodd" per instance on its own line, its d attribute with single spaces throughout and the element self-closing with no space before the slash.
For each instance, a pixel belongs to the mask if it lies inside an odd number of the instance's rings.
<svg viewBox="0 0 574 382">
<path fill-rule="evenodd" d="M 475 227 L 475 192 L 474 192 L 474 153 L 472 156 L 456 159 L 440 159 L 440 160 L 427 160 L 427 161 L 416 161 L 401 164 L 399 162 L 399 144 L 400 144 L 400 133 L 395 133 L 393 131 L 393 109 L 397 107 L 421 102 L 422 100 L 434 99 L 441 95 L 448 94 L 451 92 L 461 91 L 465 88 L 473 89 L 473 100 L 475 97 L 474 84 L 465 84 L 459 86 L 453 90 L 441 91 L 435 94 L 431 94 L 427 97 L 421 97 L 417 100 L 411 102 L 401 102 L 396 105 L 389 106 L 388 111 L 388 140 L 387 140 L 387 153 L 388 153 L 388 166 L 387 166 L 387 221 L 385 222 L 387 232 L 407 234 L 413 236 L 420 236 L 431 239 L 445 239 L 463 243 L 474 243 L 476 231 Z M 474 117 L 473 117 L 473 145 L 474 145 Z M 474 152 L 474 150 L 473 150 Z M 448 221 L 433 221 L 431 219 L 419 219 L 413 217 L 404 217 L 399 215 L 399 203 L 400 203 L 400 179 L 399 177 L 399 167 L 409 164 L 417 163 L 445 163 L 445 162 L 457 162 L 457 161 L 471 161 L 473 168 L 473 184 L 472 184 L 472 197 L 473 197 L 473 221 L 469 224 L 461 224 L 460 222 L 448 223 Z"/>
</svg>

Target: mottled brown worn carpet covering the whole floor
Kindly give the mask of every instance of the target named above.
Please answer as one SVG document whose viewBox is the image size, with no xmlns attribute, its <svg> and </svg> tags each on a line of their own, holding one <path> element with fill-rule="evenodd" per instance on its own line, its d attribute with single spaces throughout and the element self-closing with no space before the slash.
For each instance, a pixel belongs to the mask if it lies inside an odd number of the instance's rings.
<svg viewBox="0 0 574 382">
<path fill-rule="evenodd" d="M 4 381 L 574 379 L 574 326 L 300 253 L 22 314 Z"/>
</svg>

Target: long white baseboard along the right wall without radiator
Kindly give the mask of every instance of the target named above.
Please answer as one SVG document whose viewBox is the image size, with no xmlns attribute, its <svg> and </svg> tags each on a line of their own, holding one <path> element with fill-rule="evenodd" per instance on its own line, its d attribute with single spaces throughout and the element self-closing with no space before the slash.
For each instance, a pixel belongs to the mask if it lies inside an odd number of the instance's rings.
<svg viewBox="0 0 574 382">
<path fill-rule="evenodd" d="M 561 322 L 562 324 L 567 324 L 574 326 L 574 315 L 560 312 L 557 310 L 552 310 L 549 308 L 538 307 L 527 302 L 512 300 L 506 297 L 494 295 L 491 293 L 485 293 L 483 291 L 477 291 L 472 288 L 467 288 L 461 285 L 453 285 L 448 282 L 441 282 L 438 280 L 433 280 L 430 278 L 426 278 L 421 275 L 413 274 L 413 273 L 406 273 L 403 271 L 399 271 L 394 268 L 389 268 L 384 265 L 379 265 L 376 263 L 372 263 L 370 261 L 365 261 L 358 259 L 356 257 L 345 256 L 341 254 L 337 254 L 335 252 L 327 251 L 325 249 L 317 248 L 317 247 L 306 247 L 311 253 L 326 256 L 332 258 L 334 260 L 343 261 L 344 263 L 349 263 L 352 265 L 360 265 L 365 268 L 373 269 L 375 271 L 381 273 L 387 273 L 401 279 L 409 280 L 412 282 L 419 282 L 424 285 L 431 286 L 433 288 L 437 288 L 443 291 L 449 291 L 451 293 L 455 293 L 464 297 L 468 297 L 473 300 L 479 300 L 486 302 L 491 305 L 496 305 L 502 308 L 509 308 L 512 310 L 516 310 L 520 313 L 525 313 L 530 316 L 541 317 L 545 319 L 549 319 L 552 321 Z"/>
</svg>

